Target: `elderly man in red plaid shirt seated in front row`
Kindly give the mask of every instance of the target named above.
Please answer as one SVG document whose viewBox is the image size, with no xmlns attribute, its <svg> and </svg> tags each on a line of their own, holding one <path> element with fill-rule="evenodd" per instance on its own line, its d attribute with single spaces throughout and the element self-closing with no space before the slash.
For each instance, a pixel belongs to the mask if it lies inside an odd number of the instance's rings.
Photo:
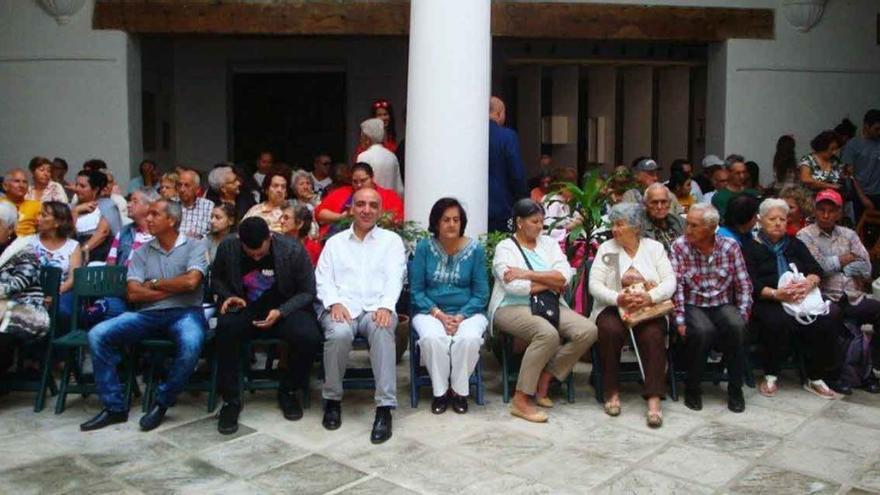
<svg viewBox="0 0 880 495">
<path fill-rule="evenodd" d="M 700 378 L 714 348 L 727 362 L 727 408 L 738 413 L 746 407 L 740 348 L 752 308 L 752 282 L 739 244 L 715 235 L 718 219 L 711 205 L 693 205 L 684 236 L 672 244 L 678 280 L 674 318 L 687 360 L 685 405 L 695 411 L 703 408 Z"/>
</svg>

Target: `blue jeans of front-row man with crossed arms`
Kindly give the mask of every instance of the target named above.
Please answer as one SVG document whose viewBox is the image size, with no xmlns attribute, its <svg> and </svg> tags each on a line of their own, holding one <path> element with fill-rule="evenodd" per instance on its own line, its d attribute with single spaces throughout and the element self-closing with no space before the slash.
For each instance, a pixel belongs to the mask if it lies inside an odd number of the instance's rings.
<svg viewBox="0 0 880 495">
<path fill-rule="evenodd" d="M 120 348 L 150 338 L 169 339 L 176 345 L 168 378 L 159 385 L 156 395 L 160 406 L 173 406 L 198 364 L 207 331 L 201 307 L 123 313 L 89 330 L 95 383 L 104 407 L 114 412 L 128 410 L 125 390 L 116 373 L 122 359 Z"/>
</svg>

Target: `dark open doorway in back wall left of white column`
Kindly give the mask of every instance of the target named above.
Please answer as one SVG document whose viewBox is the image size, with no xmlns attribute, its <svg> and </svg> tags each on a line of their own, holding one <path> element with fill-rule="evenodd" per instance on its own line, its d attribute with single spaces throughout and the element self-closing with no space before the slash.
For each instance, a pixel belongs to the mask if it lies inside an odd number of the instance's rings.
<svg viewBox="0 0 880 495">
<path fill-rule="evenodd" d="M 252 164 L 261 150 L 304 168 L 320 150 L 345 157 L 345 73 L 240 73 L 232 86 L 236 163 Z"/>
</svg>

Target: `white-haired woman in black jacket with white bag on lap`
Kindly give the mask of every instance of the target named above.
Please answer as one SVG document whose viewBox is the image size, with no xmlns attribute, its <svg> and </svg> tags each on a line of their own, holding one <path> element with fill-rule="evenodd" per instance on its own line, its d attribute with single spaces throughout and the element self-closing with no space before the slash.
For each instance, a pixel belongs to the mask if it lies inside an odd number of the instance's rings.
<svg viewBox="0 0 880 495">
<path fill-rule="evenodd" d="M 784 303 L 801 303 L 819 286 L 822 276 L 822 267 L 807 246 L 786 233 L 787 217 L 788 204 L 784 200 L 765 199 L 758 210 L 760 231 L 743 246 L 754 289 L 750 328 L 758 334 L 765 353 L 764 379 L 758 391 L 767 397 L 776 395 L 780 367 L 788 356 L 789 344 L 794 337 L 807 355 L 808 380 L 804 389 L 823 399 L 838 399 L 840 396 L 824 379 L 835 372 L 836 329 L 842 322 L 832 313 L 805 325 L 783 308 Z M 790 264 L 794 264 L 805 278 L 780 286 L 779 278 L 791 270 Z"/>
</svg>

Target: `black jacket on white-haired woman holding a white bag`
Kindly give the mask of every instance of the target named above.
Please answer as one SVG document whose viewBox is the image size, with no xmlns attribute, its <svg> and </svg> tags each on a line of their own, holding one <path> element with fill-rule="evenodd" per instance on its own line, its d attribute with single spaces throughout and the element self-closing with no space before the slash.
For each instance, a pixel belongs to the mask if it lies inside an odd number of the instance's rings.
<svg viewBox="0 0 880 495">
<path fill-rule="evenodd" d="M 783 254 L 789 263 L 794 263 L 798 270 L 807 275 L 822 277 L 822 267 L 810 254 L 807 246 L 797 237 L 787 236 L 788 246 Z M 751 239 L 743 245 L 743 257 L 749 269 L 749 278 L 752 279 L 755 300 L 761 295 L 764 287 L 776 289 L 779 283 L 779 272 L 776 268 L 776 255 L 764 244 Z"/>
</svg>

